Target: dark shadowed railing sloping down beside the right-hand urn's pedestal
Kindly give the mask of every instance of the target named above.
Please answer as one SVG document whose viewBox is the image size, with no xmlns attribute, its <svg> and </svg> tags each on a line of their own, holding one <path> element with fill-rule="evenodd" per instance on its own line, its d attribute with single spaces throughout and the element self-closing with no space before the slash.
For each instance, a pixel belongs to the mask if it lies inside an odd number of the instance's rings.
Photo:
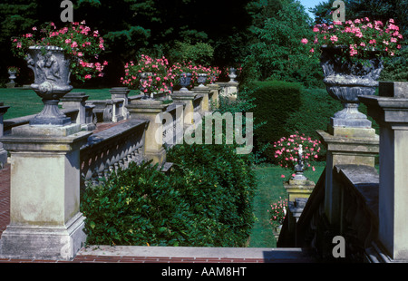
<svg viewBox="0 0 408 281">
<path fill-rule="evenodd" d="M 292 232 L 282 231 L 279 247 L 313 249 L 322 261 L 335 261 L 333 237 L 345 238 L 346 260 L 364 262 L 378 231 L 379 176 L 373 167 L 335 166 L 334 180 L 340 187 L 339 223 L 330 225 L 325 218 L 325 173 L 307 200 Z"/>
</svg>

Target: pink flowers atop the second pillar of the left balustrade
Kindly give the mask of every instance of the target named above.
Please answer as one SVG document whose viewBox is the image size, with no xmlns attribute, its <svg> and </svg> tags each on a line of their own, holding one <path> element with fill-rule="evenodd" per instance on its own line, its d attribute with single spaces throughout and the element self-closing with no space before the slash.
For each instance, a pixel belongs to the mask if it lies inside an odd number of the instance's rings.
<svg viewBox="0 0 408 281">
<path fill-rule="evenodd" d="M 169 92 L 172 82 L 169 79 L 168 65 L 169 61 L 164 56 L 158 59 L 141 54 L 138 63 L 131 61 L 125 64 L 125 75 L 121 77 L 121 83 L 145 93 Z M 146 73 L 146 77 L 141 77 L 141 73 Z"/>
</svg>

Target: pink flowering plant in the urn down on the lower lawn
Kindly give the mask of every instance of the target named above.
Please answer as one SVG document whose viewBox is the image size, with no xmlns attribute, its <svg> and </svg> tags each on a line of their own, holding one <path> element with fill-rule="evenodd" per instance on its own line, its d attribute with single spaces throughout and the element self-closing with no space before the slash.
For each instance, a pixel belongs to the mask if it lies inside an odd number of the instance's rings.
<svg viewBox="0 0 408 281">
<path fill-rule="evenodd" d="M 320 153 L 320 140 L 312 140 L 306 137 L 305 134 L 292 134 L 289 138 L 283 137 L 274 143 L 275 160 L 277 164 L 284 169 L 294 170 L 298 157 L 299 145 L 302 145 L 303 161 L 305 169 L 311 166 L 311 162 L 318 160 Z M 312 167 L 315 171 L 315 167 Z"/>
</svg>

